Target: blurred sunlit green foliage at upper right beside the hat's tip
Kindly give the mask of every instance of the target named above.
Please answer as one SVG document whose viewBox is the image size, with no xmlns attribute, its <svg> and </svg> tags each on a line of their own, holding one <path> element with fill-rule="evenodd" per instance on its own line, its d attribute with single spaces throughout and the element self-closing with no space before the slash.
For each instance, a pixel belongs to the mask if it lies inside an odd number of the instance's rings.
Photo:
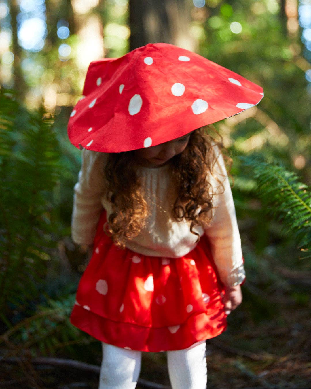
<svg viewBox="0 0 311 389">
<path fill-rule="evenodd" d="M 278 1 L 229 4 L 206 0 L 208 17 L 196 22 L 204 32 L 200 54 L 259 84 L 265 96 L 252 117 L 241 121 L 241 114 L 238 123 L 234 118 L 225 121 L 229 126 L 225 133 L 230 132 L 231 144 L 239 152 L 273 149 L 279 154 L 274 157 L 278 161 L 281 157 L 285 165 L 301 155 L 308 166 L 311 95 L 304 75 L 310 65 L 303 57 L 301 31 L 290 34 Z M 232 32 L 232 23 L 239 23 L 241 32 Z M 302 175 L 308 174 L 306 170 Z"/>
</svg>

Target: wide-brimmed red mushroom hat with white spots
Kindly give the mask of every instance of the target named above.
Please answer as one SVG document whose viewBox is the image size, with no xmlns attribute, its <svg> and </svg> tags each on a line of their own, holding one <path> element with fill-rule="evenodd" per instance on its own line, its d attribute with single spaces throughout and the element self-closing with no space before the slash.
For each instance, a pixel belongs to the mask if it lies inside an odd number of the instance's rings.
<svg viewBox="0 0 311 389">
<path fill-rule="evenodd" d="M 93 61 L 68 136 L 76 147 L 121 152 L 155 146 L 258 104 L 262 88 L 166 43 Z"/>
</svg>

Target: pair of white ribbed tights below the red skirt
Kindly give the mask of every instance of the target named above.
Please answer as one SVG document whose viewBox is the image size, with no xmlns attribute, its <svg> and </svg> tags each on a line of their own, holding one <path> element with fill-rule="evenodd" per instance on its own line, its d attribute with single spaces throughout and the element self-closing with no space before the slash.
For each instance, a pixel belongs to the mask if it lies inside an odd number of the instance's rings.
<svg viewBox="0 0 311 389">
<path fill-rule="evenodd" d="M 134 389 L 142 352 L 103 345 L 99 389 Z M 205 342 L 189 349 L 168 351 L 168 373 L 173 389 L 206 389 Z"/>
</svg>

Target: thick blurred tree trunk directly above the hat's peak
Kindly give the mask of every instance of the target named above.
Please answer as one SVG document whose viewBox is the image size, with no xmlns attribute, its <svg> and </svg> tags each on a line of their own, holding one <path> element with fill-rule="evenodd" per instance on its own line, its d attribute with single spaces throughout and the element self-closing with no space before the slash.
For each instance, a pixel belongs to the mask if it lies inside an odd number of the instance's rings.
<svg viewBox="0 0 311 389">
<path fill-rule="evenodd" d="M 131 50 L 147 43 L 164 42 L 195 51 L 190 36 L 191 0 L 129 0 Z"/>
</svg>

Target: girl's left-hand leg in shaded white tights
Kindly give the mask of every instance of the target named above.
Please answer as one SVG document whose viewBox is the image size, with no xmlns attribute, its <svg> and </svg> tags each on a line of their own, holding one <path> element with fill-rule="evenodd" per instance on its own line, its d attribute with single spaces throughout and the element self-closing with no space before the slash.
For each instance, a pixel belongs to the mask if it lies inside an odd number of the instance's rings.
<svg viewBox="0 0 311 389">
<path fill-rule="evenodd" d="M 142 352 L 103 343 L 99 389 L 134 389 L 140 373 Z"/>
</svg>

